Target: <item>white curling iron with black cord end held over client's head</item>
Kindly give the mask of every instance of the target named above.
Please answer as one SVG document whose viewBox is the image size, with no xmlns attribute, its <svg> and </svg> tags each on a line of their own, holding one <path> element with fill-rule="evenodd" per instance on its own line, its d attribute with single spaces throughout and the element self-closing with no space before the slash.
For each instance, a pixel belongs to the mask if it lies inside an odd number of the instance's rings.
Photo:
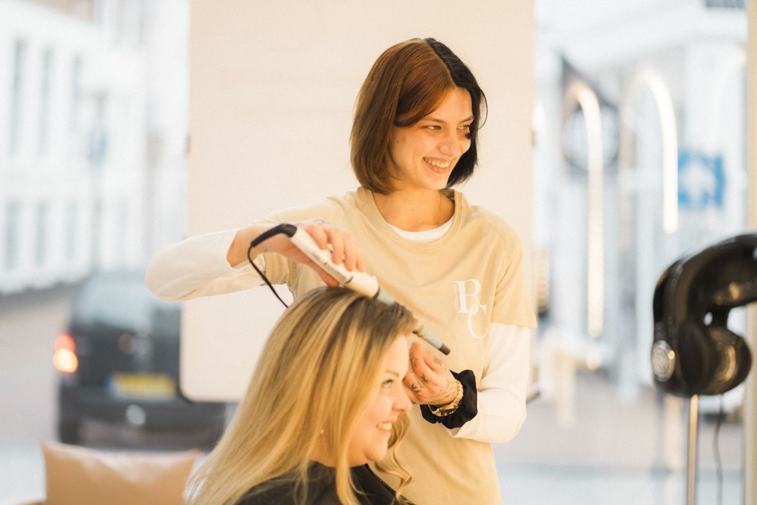
<svg viewBox="0 0 757 505">
<path fill-rule="evenodd" d="M 382 288 L 378 286 L 378 281 L 374 276 L 369 276 L 367 273 L 358 270 L 350 272 L 350 270 L 347 270 L 343 264 L 335 265 L 332 263 L 332 255 L 330 251 L 319 248 L 316 241 L 308 232 L 299 229 L 293 224 L 282 223 L 259 235 L 251 242 L 250 248 L 248 249 L 248 257 L 252 248 L 260 244 L 260 242 L 273 237 L 273 235 L 278 235 L 279 233 L 287 235 L 292 244 L 345 288 L 350 288 L 361 295 L 365 295 L 368 298 L 373 298 L 388 305 L 397 303 L 394 301 L 394 298 L 391 298 L 391 296 L 386 293 L 386 291 L 382 291 Z M 415 326 L 413 327 L 413 333 L 427 341 L 428 344 L 431 344 L 442 353 L 450 354 L 450 348 L 444 345 L 444 343 L 439 340 L 436 335 L 431 333 L 431 330 L 423 326 L 419 320 L 416 320 Z"/>
</svg>

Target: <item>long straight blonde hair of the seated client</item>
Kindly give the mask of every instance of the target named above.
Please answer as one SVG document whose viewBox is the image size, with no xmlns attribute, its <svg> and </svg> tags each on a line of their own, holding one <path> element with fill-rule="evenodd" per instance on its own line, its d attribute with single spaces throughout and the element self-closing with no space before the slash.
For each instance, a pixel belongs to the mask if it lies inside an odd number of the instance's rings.
<svg viewBox="0 0 757 505">
<path fill-rule="evenodd" d="M 282 479 L 305 503 L 309 456 L 325 443 L 339 500 L 358 505 L 347 446 L 375 395 L 385 354 L 412 324 L 400 305 L 345 288 L 319 288 L 291 304 L 266 341 L 229 429 L 193 475 L 190 503 L 234 505 L 251 488 L 262 492 L 263 483 Z M 400 478 L 397 499 L 411 479 L 396 459 L 407 426 L 403 413 L 389 441 L 390 463 L 379 466 Z"/>
</svg>

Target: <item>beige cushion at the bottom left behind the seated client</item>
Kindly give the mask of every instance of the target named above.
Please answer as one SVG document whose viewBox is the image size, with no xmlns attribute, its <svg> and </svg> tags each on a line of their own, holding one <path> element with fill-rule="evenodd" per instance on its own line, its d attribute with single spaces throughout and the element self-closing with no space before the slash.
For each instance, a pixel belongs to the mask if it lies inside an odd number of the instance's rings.
<svg viewBox="0 0 757 505">
<path fill-rule="evenodd" d="M 111 453 L 42 443 L 46 505 L 181 505 L 197 450 Z"/>
</svg>

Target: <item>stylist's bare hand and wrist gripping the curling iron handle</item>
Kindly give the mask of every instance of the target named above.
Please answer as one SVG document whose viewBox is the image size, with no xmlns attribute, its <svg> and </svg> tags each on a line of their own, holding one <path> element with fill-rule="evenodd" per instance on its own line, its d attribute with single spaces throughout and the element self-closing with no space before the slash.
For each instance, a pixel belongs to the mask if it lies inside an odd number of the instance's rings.
<svg viewBox="0 0 757 505">
<path fill-rule="evenodd" d="M 267 229 L 273 228 L 273 224 L 254 224 L 246 228 L 239 229 L 236 233 L 232 244 L 229 246 L 229 251 L 226 254 L 226 260 L 229 265 L 235 267 L 239 263 L 248 261 L 248 248 L 250 243 L 255 237 L 265 232 Z M 363 263 L 363 254 L 360 252 L 360 247 L 357 245 L 355 239 L 344 229 L 333 226 L 329 223 L 325 223 L 321 220 L 310 220 L 302 223 L 297 223 L 298 228 L 304 229 L 313 237 L 319 248 L 326 250 L 331 245 L 332 247 L 332 262 L 335 264 L 344 263 L 344 267 L 347 270 L 365 270 L 365 264 Z M 323 282 L 327 285 L 337 286 L 339 283 L 329 276 L 326 271 L 313 263 L 309 257 L 305 256 L 296 246 L 294 246 L 286 235 L 274 235 L 273 237 L 261 242 L 250 251 L 251 257 L 254 259 L 259 254 L 266 251 L 273 251 L 288 257 L 290 260 L 303 263 L 308 267 L 316 270 Z"/>
</svg>

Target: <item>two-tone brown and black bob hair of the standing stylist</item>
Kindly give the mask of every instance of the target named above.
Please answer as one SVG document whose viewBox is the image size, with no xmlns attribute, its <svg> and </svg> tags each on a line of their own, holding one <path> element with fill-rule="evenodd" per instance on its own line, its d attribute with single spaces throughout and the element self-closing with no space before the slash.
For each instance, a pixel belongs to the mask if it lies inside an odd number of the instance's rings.
<svg viewBox="0 0 757 505">
<path fill-rule="evenodd" d="M 434 111 L 454 88 L 471 95 L 471 146 L 447 181 L 466 181 L 478 161 L 476 138 L 486 117 L 486 97 L 470 69 L 435 39 L 411 39 L 391 46 L 375 61 L 357 95 L 350 132 L 352 169 L 372 192 L 391 193 L 389 137 L 392 126 L 411 126 Z"/>
</svg>

